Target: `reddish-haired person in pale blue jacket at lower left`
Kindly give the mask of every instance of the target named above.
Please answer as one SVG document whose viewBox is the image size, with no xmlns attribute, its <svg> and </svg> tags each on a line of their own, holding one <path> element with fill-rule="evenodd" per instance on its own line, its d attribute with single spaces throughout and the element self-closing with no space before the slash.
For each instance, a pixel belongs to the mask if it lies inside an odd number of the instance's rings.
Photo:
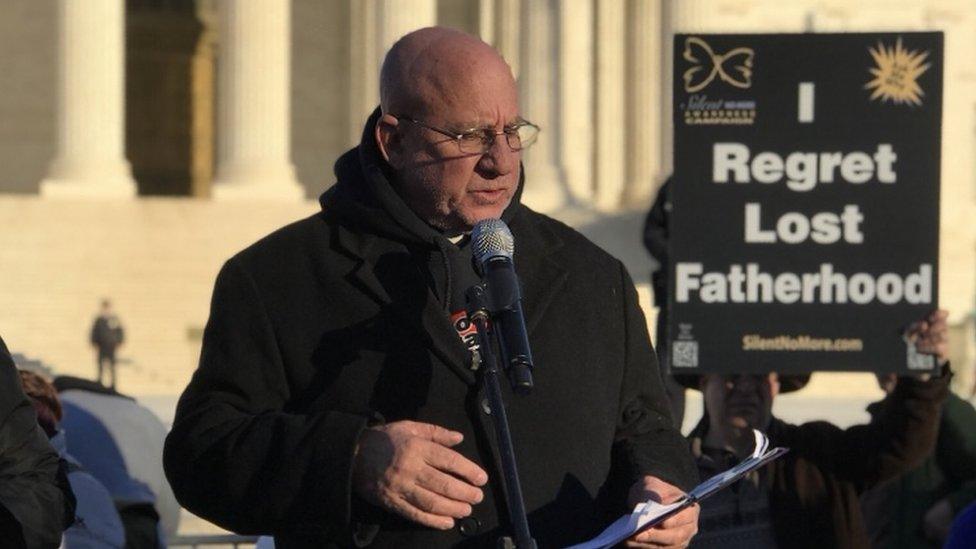
<svg viewBox="0 0 976 549">
<path fill-rule="evenodd" d="M 85 470 L 67 451 L 65 432 L 60 429 L 62 418 L 58 393 L 46 379 L 27 370 L 20 371 L 24 393 L 37 412 L 37 422 L 47 434 L 51 445 L 68 465 L 68 481 L 78 505 L 75 521 L 64 532 L 63 549 L 123 549 L 125 530 L 122 519 L 108 490 Z"/>
</svg>

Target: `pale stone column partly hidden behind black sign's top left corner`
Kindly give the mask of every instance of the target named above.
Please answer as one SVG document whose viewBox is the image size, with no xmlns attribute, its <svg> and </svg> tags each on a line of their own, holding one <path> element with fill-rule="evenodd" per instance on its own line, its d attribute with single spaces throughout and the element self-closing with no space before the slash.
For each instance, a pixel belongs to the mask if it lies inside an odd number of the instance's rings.
<svg viewBox="0 0 976 549">
<path fill-rule="evenodd" d="M 661 33 L 661 173 L 674 170 L 674 124 L 672 122 L 672 86 L 674 85 L 674 35 L 675 33 L 703 32 L 708 18 L 708 0 L 664 0 L 664 32 Z"/>
</svg>

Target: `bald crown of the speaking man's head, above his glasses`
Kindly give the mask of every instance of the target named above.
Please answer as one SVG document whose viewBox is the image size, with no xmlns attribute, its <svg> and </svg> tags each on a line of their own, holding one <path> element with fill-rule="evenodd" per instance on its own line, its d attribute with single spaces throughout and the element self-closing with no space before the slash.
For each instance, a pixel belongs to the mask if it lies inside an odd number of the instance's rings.
<svg viewBox="0 0 976 549">
<path fill-rule="evenodd" d="M 491 46 L 458 30 L 428 27 L 403 36 L 387 53 L 380 105 L 384 113 L 424 116 L 500 80 L 514 93 L 511 68 Z"/>
</svg>

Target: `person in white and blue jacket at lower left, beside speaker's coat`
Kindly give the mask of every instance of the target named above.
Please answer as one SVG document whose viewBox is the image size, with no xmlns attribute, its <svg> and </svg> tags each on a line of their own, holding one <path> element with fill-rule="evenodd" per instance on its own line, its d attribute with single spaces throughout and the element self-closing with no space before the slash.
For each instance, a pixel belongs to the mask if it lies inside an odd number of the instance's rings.
<svg viewBox="0 0 976 549">
<path fill-rule="evenodd" d="M 93 381 L 59 376 L 54 387 L 71 453 L 111 494 L 126 547 L 164 547 L 180 513 L 163 473 L 166 426 L 134 399 Z"/>
</svg>

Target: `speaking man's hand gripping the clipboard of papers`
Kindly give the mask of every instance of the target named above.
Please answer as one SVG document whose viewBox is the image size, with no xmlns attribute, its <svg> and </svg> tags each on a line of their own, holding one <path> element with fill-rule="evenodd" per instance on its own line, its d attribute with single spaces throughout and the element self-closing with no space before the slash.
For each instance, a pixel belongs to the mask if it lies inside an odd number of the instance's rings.
<svg viewBox="0 0 976 549">
<path fill-rule="evenodd" d="M 667 504 L 684 495 L 677 486 L 663 480 L 645 475 L 630 488 L 627 503 L 631 509 L 638 503 L 653 499 L 658 503 Z M 653 526 L 630 538 L 626 547 L 635 548 L 677 548 L 688 547 L 691 538 L 698 532 L 698 504 L 682 510 L 677 515 L 668 518 L 661 524 Z"/>
</svg>

